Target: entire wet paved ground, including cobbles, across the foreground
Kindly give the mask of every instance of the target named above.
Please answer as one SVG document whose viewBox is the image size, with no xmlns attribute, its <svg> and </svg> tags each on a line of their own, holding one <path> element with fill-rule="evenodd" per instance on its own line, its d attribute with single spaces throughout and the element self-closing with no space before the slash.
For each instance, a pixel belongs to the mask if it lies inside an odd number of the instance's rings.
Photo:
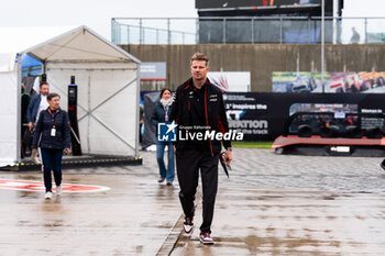
<svg viewBox="0 0 385 256">
<path fill-rule="evenodd" d="M 385 172 L 378 157 L 275 155 L 234 148 L 219 170 L 215 245 L 182 232 L 178 183 L 158 185 L 155 153 L 143 166 L 64 171 L 64 183 L 102 192 L 0 190 L 0 255 L 385 255 Z M 220 167 L 221 168 L 221 167 Z M 38 170 L 0 179 L 42 180 Z"/>
</svg>

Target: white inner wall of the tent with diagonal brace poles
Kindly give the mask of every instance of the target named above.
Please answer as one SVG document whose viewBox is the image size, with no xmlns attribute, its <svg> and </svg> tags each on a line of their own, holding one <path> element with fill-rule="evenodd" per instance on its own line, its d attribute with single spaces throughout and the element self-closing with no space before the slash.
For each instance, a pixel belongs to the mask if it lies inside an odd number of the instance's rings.
<svg viewBox="0 0 385 256">
<path fill-rule="evenodd" d="M 135 155 L 135 133 L 131 125 L 136 116 L 130 102 L 136 101 L 136 67 L 117 67 L 117 63 L 50 63 L 46 67 L 51 91 L 65 96 L 61 105 L 67 108 L 67 85 L 75 76 L 78 85 L 78 125 L 85 154 Z M 108 67 L 112 65 L 113 67 Z M 75 66 L 75 67 L 69 67 Z M 79 67 L 80 66 L 80 67 Z M 92 66 L 92 68 L 89 68 Z M 121 125 L 121 123 L 127 125 Z"/>
</svg>

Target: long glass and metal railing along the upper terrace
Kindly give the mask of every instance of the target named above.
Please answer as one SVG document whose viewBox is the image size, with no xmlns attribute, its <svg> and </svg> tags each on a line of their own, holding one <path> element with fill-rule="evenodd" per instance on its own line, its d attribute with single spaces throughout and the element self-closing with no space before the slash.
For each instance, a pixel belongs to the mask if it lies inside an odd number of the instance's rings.
<svg viewBox="0 0 385 256">
<path fill-rule="evenodd" d="M 112 18 L 116 44 L 321 43 L 321 18 Z M 383 44 L 385 18 L 326 18 L 329 44 Z"/>
</svg>

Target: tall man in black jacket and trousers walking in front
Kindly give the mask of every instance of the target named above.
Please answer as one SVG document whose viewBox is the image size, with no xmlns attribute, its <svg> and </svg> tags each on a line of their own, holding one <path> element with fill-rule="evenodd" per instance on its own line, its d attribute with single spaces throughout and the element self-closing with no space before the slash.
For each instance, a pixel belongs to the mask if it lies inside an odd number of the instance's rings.
<svg viewBox="0 0 385 256">
<path fill-rule="evenodd" d="M 207 78 L 208 57 L 200 53 L 194 54 L 190 71 L 193 77 L 176 89 L 170 114 L 170 121 L 178 124 L 179 132 L 176 143 L 179 199 L 185 213 L 185 232 L 190 233 L 200 169 L 204 222 L 199 238 L 204 244 L 212 244 L 210 227 L 218 188 L 219 154 L 223 143 L 227 149 L 223 158 L 229 164 L 232 159 L 231 142 L 221 137 L 221 134 L 229 132 L 229 125 L 222 92 Z"/>
</svg>

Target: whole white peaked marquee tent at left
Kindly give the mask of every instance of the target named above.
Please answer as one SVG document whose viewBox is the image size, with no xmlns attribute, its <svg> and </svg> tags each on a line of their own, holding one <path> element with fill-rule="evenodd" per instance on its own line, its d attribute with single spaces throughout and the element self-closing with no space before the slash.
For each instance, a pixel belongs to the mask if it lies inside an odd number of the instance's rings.
<svg viewBox="0 0 385 256">
<path fill-rule="evenodd" d="M 20 162 L 22 54 L 43 63 L 64 110 L 70 76 L 76 77 L 85 154 L 139 155 L 140 60 L 87 26 L 62 32 L 0 29 L 0 167 Z"/>
</svg>

